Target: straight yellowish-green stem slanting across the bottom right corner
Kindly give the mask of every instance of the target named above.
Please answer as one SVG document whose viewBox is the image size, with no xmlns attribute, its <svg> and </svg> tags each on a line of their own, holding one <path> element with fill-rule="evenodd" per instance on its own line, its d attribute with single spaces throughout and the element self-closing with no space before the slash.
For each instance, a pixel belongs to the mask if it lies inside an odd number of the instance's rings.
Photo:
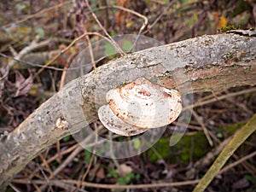
<svg viewBox="0 0 256 192">
<path fill-rule="evenodd" d="M 207 186 L 212 182 L 212 179 L 218 174 L 219 170 L 224 166 L 226 161 L 230 159 L 230 156 L 234 154 L 236 149 L 240 147 L 247 137 L 249 137 L 255 130 L 256 114 L 253 115 L 253 117 L 241 128 L 240 131 L 236 132 L 236 135 L 218 155 L 218 158 L 213 162 L 205 176 L 202 177 L 200 182 L 195 186 L 193 192 L 202 192 L 207 189 Z"/>
</svg>

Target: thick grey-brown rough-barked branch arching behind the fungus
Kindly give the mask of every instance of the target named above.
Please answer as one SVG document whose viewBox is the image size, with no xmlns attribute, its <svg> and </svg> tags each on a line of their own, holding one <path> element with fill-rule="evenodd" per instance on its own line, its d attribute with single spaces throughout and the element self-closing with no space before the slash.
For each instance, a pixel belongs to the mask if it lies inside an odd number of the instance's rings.
<svg viewBox="0 0 256 192">
<path fill-rule="evenodd" d="M 49 145 L 95 121 L 107 90 L 124 82 L 145 77 L 183 94 L 255 85 L 255 44 L 246 34 L 206 35 L 126 55 L 74 79 L 0 138 L 0 189 Z"/>
</svg>

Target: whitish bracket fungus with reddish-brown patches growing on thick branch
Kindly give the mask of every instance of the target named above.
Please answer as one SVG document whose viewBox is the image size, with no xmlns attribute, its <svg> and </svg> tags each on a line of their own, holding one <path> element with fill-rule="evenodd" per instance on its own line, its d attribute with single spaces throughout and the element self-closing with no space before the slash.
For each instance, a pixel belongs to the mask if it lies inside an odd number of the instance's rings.
<svg viewBox="0 0 256 192">
<path fill-rule="evenodd" d="M 171 124 L 182 111 L 177 90 L 168 90 L 148 79 L 108 90 L 107 105 L 98 110 L 102 124 L 116 134 L 134 136 Z"/>
</svg>

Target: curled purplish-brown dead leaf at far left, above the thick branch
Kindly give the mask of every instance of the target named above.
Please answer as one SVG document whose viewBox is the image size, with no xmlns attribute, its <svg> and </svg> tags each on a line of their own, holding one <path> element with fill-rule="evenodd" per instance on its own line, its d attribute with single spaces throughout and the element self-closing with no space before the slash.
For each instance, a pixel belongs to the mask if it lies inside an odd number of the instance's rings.
<svg viewBox="0 0 256 192">
<path fill-rule="evenodd" d="M 30 73 L 27 79 L 25 79 L 19 71 L 15 71 L 15 74 L 16 74 L 15 87 L 17 88 L 17 90 L 15 92 L 14 97 L 25 96 L 32 87 L 32 83 L 33 83 L 32 73 Z"/>
</svg>

